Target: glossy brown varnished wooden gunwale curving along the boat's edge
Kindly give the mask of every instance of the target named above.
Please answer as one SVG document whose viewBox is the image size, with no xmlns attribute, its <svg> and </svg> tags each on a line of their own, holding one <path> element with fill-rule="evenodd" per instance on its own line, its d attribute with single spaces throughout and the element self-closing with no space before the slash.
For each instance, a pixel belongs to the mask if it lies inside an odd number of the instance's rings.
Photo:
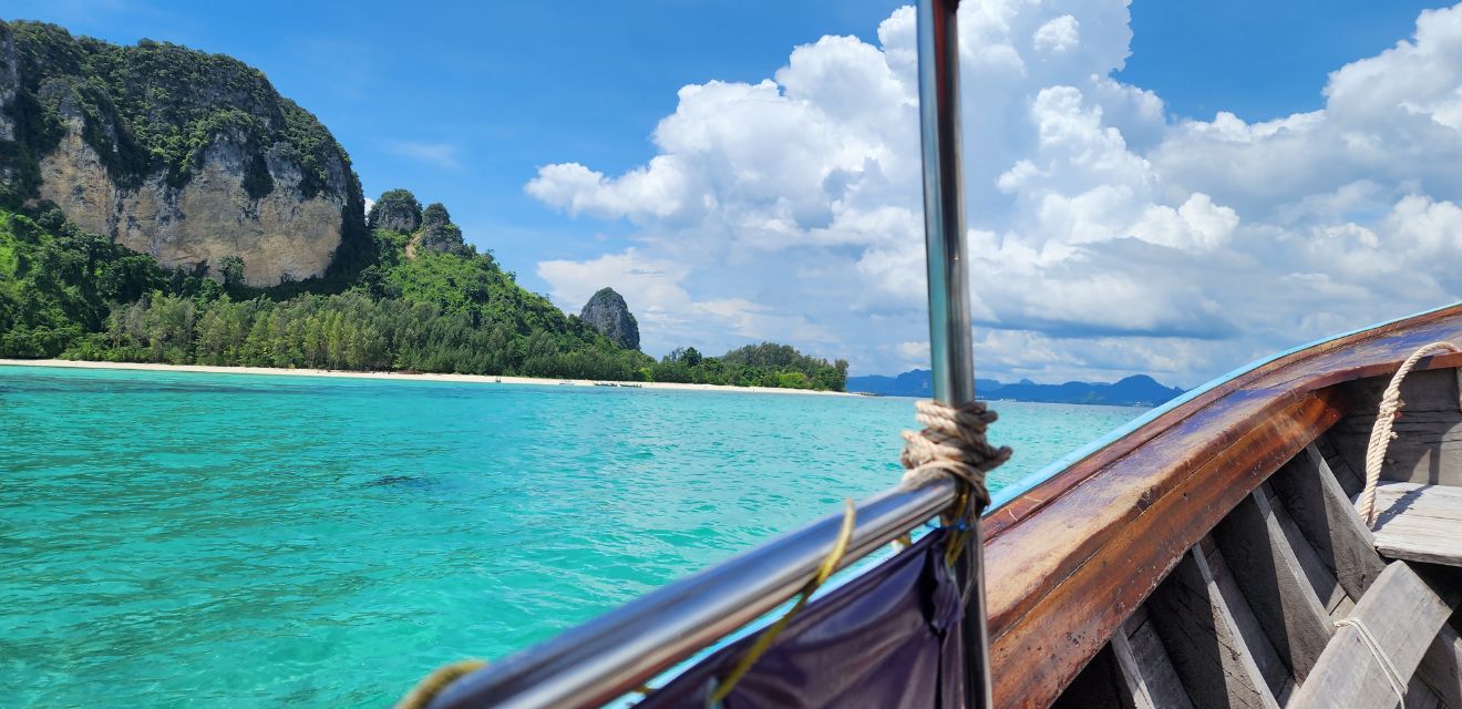
<svg viewBox="0 0 1462 709">
<path fill-rule="evenodd" d="M 1189 542 L 1347 412 L 1349 402 L 1335 384 L 1385 376 L 1423 339 L 1458 329 L 1462 304 L 1281 352 L 1118 430 L 1007 496 L 985 520 L 996 703 L 1053 702 Z M 1418 363 L 1421 370 L 1450 367 L 1462 367 L 1462 355 Z M 1206 490 L 1215 479 L 1230 487 Z M 1032 661 L 1031 653 L 1041 656 Z"/>
</svg>

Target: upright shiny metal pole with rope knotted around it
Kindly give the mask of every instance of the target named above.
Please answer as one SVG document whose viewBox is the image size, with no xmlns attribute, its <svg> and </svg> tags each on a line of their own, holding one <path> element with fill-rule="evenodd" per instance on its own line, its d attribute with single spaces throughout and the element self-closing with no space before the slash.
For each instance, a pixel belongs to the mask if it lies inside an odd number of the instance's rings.
<svg viewBox="0 0 1462 709">
<path fill-rule="evenodd" d="M 959 0 L 920 0 L 918 94 L 924 143 L 924 235 L 928 253 L 928 344 L 934 398 L 952 405 L 975 399 L 969 335 L 969 265 L 965 259 L 965 184 L 959 139 Z M 984 535 L 975 525 L 956 577 L 965 607 L 965 705 L 993 706 L 990 630 L 985 620 Z"/>
</svg>

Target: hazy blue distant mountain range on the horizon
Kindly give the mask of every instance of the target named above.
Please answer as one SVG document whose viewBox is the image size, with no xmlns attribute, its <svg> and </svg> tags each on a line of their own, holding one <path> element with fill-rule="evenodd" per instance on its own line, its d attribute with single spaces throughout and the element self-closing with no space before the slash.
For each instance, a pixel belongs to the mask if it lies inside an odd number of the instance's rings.
<svg viewBox="0 0 1462 709">
<path fill-rule="evenodd" d="M 930 396 L 933 395 L 931 379 L 928 370 L 905 371 L 896 377 L 882 374 L 848 377 L 848 390 L 883 396 Z M 1146 374 L 1137 374 L 1111 384 L 1094 382 L 1037 384 L 1029 379 L 1006 384 L 994 379 L 977 379 L 975 392 L 980 393 L 981 399 L 991 401 L 1156 406 L 1181 395 L 1183 389 L 1162 386 Z"/>
</svg>

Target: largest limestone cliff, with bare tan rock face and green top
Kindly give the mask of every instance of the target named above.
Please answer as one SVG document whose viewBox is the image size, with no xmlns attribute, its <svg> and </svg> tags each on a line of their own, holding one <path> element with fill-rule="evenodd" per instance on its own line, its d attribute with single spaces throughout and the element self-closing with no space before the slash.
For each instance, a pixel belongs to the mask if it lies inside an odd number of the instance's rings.
<svg viewBox="0 0 1462 709">
<path fill-rule="evenodd" d="M 0 22 L 0 197 L 54 202 L 164 266 L 322 276 L 368 238 L 349 156 L 256 69 Z"/>
</svg>

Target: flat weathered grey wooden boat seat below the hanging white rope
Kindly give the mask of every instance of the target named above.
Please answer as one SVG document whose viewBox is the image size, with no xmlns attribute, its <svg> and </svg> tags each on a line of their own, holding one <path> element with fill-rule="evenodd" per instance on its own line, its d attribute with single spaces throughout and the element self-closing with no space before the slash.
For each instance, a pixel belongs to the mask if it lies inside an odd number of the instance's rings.
<svg viewBox="0 0 1462 709">
<path fill-rule="evenodd" d="M 1385 557 L 1462 566 L 1462 488 L 1382 481 L 1374 535 Z"/>
</svg>

